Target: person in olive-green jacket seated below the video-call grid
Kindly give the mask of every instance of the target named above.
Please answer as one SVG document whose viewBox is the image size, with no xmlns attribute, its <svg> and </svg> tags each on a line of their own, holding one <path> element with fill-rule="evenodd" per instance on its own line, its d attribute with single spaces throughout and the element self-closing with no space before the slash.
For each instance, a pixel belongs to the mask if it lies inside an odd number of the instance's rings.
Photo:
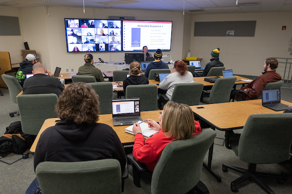
<svg viewBox="0 0 292 194">
<path fill-rule="evenodd" d="M 86 64 L 79 67 L 77 75 L 94 76 L 97 82 L 105 81 L 102 72 L 93 65 L 92 54 L 86 54 L 84 56 L 84 61 Z"/>
</svg>

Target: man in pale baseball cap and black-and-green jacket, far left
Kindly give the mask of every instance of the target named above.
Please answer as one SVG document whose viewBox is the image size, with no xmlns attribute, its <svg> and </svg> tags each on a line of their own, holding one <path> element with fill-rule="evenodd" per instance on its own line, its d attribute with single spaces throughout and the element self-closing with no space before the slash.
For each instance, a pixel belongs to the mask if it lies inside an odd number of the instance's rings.
<svg viewBox="0 0 292 194">
<path fill-rule="evenodd" d="M 15 77 L 21 87 L 23 87 L 23 82 L 26 79 L 26 74 L 32 74 L 33 65 L 37 63 L 37 60 L 39 60 L 39 57 L 37 57 L 35 54 L 27 54 L 25 60 L 20 63 L 20 67 Z"/>
</svg>

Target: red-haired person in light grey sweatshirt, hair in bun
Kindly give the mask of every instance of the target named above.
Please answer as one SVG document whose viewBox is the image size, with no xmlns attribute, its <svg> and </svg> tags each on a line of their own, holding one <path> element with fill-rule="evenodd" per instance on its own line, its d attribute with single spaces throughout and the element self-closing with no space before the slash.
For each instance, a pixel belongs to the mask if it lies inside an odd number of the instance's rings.
<svg viewBox="0 0 292 194">
<path fill-rule="evenodd" d="M 193 83 L 193 74 L 188 71 L 186 63 L 176 61 L 174 63 L 174 73 L 169 74 L 162 82 L 159 83 L 159 88 L 166 91 L 166 97 L 171 100 L 173 90 L 177 83 Z"/>
</svg>

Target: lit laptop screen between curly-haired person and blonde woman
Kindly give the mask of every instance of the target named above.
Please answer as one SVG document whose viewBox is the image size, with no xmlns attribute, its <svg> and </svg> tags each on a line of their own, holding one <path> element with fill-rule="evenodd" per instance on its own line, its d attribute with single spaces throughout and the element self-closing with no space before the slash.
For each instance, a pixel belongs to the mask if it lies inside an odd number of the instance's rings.
<svg viewBox="0 0 292 194">
<path fill-rule="evenodd" d="M 112 99 L 112 116 L 140 116 L 140 98 Z"/>
</svg>

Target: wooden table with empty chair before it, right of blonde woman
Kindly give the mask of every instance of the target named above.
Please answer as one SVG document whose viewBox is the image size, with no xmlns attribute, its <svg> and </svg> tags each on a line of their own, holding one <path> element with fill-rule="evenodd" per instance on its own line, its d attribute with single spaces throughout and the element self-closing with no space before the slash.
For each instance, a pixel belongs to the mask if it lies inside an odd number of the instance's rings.
<svg viewBox="0 0 292 194">
<path fill-rule="evenodd" d="M 292 106 L 291 102 L 284 100 L 281 100 L 281 103 Z M 223 131 L 242 129 L 247 118 L 252 114 L 283 113 L 283 111 L 274 111 L 263 107 L 261 99 L 204 104 L 191 106 L 191 108 L 200 121 L 208 123 L 214 130 Z M 211 170 L 213 147 L 214 144 L 209 149 L 208 164 L 204 163 L 203 166 L 220 182 L 221 178 Z M 226 147 L 228 148 L 228 145 Z"/>
</svg>

